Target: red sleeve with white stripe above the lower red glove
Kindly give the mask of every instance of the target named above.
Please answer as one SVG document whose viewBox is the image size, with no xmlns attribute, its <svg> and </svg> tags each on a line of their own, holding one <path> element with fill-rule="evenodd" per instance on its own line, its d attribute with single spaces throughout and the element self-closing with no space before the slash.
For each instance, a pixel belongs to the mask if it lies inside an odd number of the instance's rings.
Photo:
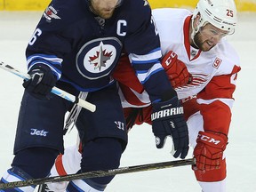
<svg viewBox="0 0 256 192">
<path fill-rule="evenodd" d="M 231 108 L 236 90 L 239 67 L 229 75 L 214 76 L 202 92 L 197 94 L 200 112 L 204 119 L 204 131 L 221 132 L 228 135 Z"/>
</svg>

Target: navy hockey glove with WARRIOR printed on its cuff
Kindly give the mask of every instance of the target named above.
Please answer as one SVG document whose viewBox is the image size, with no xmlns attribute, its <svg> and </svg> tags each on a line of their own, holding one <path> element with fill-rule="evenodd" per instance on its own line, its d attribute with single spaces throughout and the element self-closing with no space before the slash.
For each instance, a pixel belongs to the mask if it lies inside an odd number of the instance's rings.
<svg viewBox="0 0 256 192">
<path fill-rule="evenodd" d="M 172 136 L 174 156 L 184 159 L 188 155 L 188 125 L 183 116 L 180 100 L 174 96 L 171 100 L 152 104 L 152 129 L 156 136 L 156 148 L 163 148 L 167 136 Z"/>
</svg>

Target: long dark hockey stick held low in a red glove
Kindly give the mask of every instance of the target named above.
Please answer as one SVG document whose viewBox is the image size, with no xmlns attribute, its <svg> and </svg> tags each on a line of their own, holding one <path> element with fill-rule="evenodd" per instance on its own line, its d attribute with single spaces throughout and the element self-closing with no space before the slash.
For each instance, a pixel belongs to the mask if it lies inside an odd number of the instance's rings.
<svg viewBox="0 0 256 192">
<path fill-rule="evenodd" d="M 49 182 L 60 182 L 60 181 L 70 181 L 70 180 L 82 180 L 86 178 L 97 178 L 97 177 L 106 177 L 109 175 L 116 175 L 116 174 L 124 174 L 124 173 L 131 173 L 131 172 L 144 172 L 144 171 L 153 171 L 157 169 L 164 169 L 164 168 L 171 168 L 171 167 L 178 167 L 184 166 L 189 164 L 195 164 L 195 159 L 184 159 L 178 161 L 168 161 L 162 163 L 154 163 L 154 164 L 140 164 L 135 166 L 127 166 L 121 167 L 113 170 L 100 170 L 100 171 L 92 171 L 92 172 L 82 172 L 76 174 L 68 174 L 64 176 L 55 176 L 49 178 L 41 178 L 41 179 L 32 179 L 32 180 L 22 180 L 22 181 L 14 181 L 9 183 L 0 183 L 0 189 L 5 188 L 20 188 L 26 187 L 31 185 L 40 185 Z"/>
</svg>

